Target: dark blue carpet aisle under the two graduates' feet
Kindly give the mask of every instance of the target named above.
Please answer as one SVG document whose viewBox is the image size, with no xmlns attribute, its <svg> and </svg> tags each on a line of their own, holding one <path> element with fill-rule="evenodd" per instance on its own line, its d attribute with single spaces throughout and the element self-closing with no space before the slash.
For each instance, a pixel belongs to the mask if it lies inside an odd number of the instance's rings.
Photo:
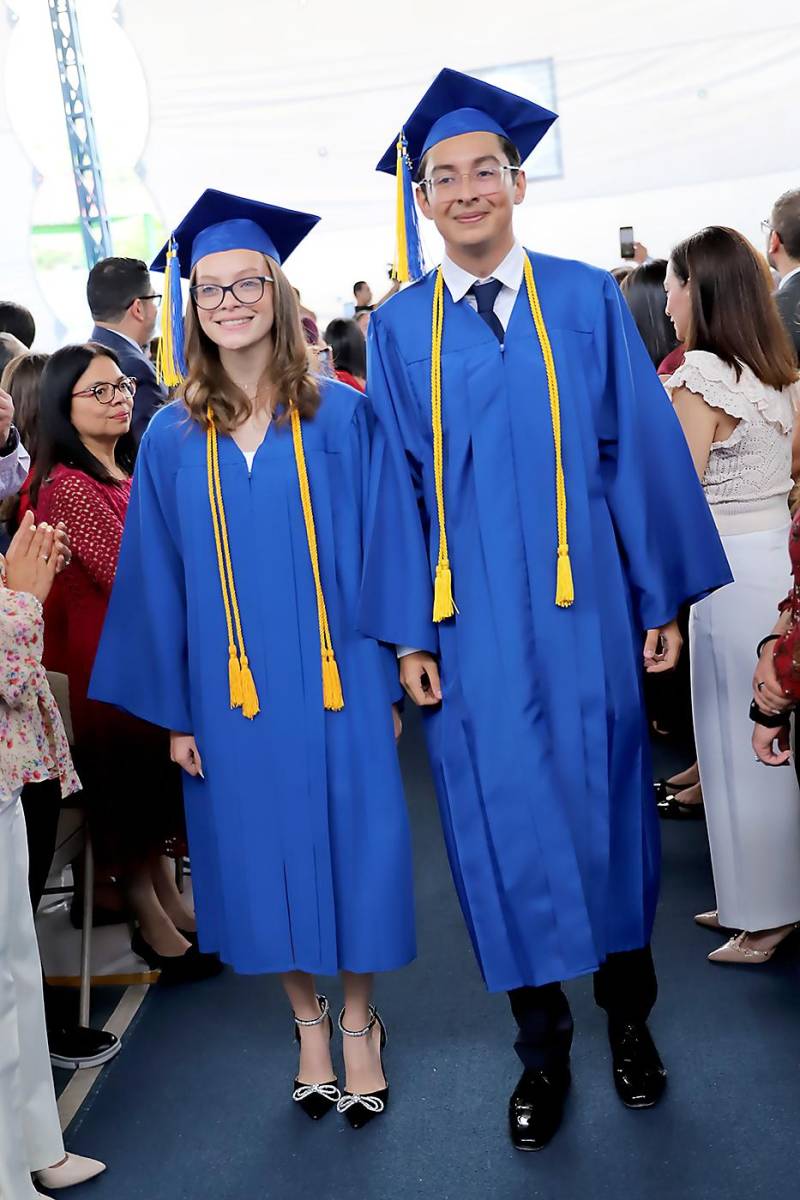
<svg viewBox="0 0 800 1200">
<path fill-rule="evenodd" d="M 290 1104 L 296 1052 L 276 980 L 227 972 L 155 988 L 67 1133 L 71 1150 L 109 1163 L 72 1200 L 794 1200 L 800 953 L 766 967 L 705 961 L 720 937 L 691 919 L 712 907 L 704 826 L 662 827 L 651 1027 L 670 1070 L 666 1099 L 646 1112 L 620 1105 L 602 1014 L 579 980 L 564 1128 L 543 1153 L 521 1154 L 505 1124 L 519 1069 L 509 1007 L 483 991 L 473 960 L 416 727 L 403 757 L 420 958 L 379 986 L 386 1117 L 354 1133 Z M 324 990 L 338 1004 L 337 984 Z"/>
</svg>

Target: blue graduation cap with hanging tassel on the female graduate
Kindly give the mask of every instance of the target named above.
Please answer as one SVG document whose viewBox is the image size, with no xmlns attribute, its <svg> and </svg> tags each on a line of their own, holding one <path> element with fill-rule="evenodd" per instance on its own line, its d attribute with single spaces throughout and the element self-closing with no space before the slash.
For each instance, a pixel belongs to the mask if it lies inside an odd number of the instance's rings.
<svg viewBox="0 0 800 1200">
<path fill-rule="evenodd" d="M 255 250 L 282 264 L 318 221 L 312 212 L 248 200 L 215 187 L 203 192 L 150 264 L 151 271 L 164 274 L 156 362 L 160 380 L 174 388 L 186 377 L 181 277 L 191 278 L 201 258 L 224 250 Z"/>
</svg>

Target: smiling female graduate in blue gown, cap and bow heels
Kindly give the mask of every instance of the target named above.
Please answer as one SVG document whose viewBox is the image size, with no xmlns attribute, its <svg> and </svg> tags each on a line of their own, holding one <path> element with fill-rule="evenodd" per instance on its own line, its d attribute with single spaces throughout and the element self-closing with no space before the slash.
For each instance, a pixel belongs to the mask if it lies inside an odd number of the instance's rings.
<svg viewBox="0 0 800 1200">
<path fill-rule="evenodd" d="M 294 1100 L 359 1128 L 387 1103 L 372 976 L 414 958 L 411 860 L 391 654 L 355 626 L 363 401 L 311 373 L 279 266 L 317 221 L 210 190 L 154 263 L 180 398 L 142 440 L 92 695 L 172 731 L 200 946 L 281 974 Z M 343 1093 L 314 989 L 339 971 Z"/>
</svg>

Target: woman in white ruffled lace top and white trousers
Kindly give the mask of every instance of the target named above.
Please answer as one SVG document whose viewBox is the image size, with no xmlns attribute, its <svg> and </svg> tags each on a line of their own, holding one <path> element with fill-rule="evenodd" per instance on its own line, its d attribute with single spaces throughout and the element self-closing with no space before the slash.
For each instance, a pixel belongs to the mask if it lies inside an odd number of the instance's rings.
<svg viewBox="0 0 800 1200">
<path fill-rule="evenodd" d="M 667 382 L 735 582 L 692 610 L 692 704 L 716 910 L 733 932 L 709 958 L 765 962 L 800 920 L 800 788 L 754 761 L 753 630 L 784 590 L 796 366 L 766 264 L 733 229 L 672 253 L 667 312 L 685 343 Z M 766 794 L 765 794 L 766 793 Z"/>
</svg>

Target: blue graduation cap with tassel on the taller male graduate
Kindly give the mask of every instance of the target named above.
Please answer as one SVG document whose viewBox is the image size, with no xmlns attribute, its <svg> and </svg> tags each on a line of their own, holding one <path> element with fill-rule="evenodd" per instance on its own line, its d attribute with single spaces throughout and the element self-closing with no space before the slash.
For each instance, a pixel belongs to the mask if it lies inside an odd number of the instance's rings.
<svg viewBox="0 0 800 1200">
<path fill-rule="evenodd" d="M 497 133 L 524 162 L 557 119 L 524 96 L 450 67 L 440 71 L 375 168 L 397 176 L 393 277 L 408 282 L 425 272 L 413 181 L 428 150 L 462 133 Z"/>
</svg>

